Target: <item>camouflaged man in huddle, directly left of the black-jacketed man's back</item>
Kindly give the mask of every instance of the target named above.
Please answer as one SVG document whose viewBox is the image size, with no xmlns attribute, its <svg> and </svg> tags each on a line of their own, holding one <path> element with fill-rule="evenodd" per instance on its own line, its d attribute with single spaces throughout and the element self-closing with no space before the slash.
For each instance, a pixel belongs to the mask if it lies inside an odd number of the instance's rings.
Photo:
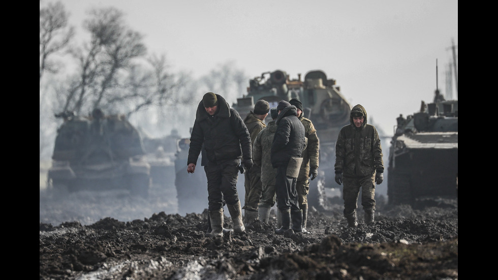
<svg viewBox="0 0 498 280">
<path fill-rule="evenodd" d="M 268 122 L 266 128 L 258 134 L 253 144 L 253 169 L 261 170 L 261 182 L 263 184 L 261 199 L 258 205 L 258 220 L 264 223 L 268 223 L 270 208 L 275 205 L 276 198 L 276 169 L 271 166 L 270 161 L 271 144 L 273 143 L 273 136 L 276 131 L 275 120 L 278 117 L 276 107 L 270 109 L 270 115 L 273 120 Z"/>
</svg>

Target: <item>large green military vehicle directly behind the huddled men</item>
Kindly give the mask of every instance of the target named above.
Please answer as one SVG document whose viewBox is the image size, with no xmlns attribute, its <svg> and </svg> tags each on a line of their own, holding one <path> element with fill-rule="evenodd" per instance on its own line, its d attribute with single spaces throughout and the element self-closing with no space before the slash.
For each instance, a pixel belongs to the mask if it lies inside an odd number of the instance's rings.
<svg viewBox="0 0 498 280">
<path fill-rule="evenodd" d="M 279 101 L 292 98 L 301 101 L 304 117 L 313 122 L 320 138 L 319 174 L 315 180 L 310 180 L 308 204 L 318 210 L 327 210 L 335 203 L 334 196 L 327 193 L 341 194 L 341 185 L 334 180 L 335 142 L 340 129 L 349 125 L 352 109 L 336 81 L 327 78 L 321 70 L 307 72 L 304 80 L 301 80 L 301 74 L 291 80 L 282 70 L 263 72 L 249 81 L 247 95 L 238 98 L 232 107 L 244 118 L 260 99 L 268 101 L 270 107 L 276 107 Z M 269 120 L 268 115 L 266 122 Z"/>
</svg>

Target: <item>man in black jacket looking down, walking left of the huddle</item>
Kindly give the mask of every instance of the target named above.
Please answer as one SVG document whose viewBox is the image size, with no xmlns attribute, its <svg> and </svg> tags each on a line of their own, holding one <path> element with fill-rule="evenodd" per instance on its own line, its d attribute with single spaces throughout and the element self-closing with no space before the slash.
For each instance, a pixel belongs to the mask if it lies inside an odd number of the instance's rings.
<svg viewBox="0 0 498 280">
<path fill-rule="evenodd" d="M 203 145 L 208 160 L 204 171 L 212 228 L 207 236 L 223 236 L 225 203 L 232 217 L 233 230 L 243 232 L 245 227 L 236 184 L 240 159 L 243 159 L 247 170 L 253 166 L 251 137 L 237 111 L 230 108 L 222 96 L 213 92 L 207 92 L 197 107 L 190 138 L 187 172 L 195 172 Z"/>
</svg>

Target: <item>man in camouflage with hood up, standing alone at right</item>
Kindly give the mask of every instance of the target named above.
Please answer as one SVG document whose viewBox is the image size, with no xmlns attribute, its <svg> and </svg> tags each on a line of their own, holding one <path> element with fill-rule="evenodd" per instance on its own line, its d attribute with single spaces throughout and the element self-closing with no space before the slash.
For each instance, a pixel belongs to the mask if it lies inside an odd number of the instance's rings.
<svg viewBox="0 0 498 280">
<path fill-rule="evenodd" d="M 367 125 L 366 117 L 363 106 L 354 106 L 351 124 L 339 131 L 335 144 L 335 181 L 339 185 L 344 182 L 344 216 L 349 227 L 358 226 L 356 208 L 360 188 L 365 224 L 374 223 L 375 184 L 384 180 L 381 140 L 377 129 Z"/>
</svg>

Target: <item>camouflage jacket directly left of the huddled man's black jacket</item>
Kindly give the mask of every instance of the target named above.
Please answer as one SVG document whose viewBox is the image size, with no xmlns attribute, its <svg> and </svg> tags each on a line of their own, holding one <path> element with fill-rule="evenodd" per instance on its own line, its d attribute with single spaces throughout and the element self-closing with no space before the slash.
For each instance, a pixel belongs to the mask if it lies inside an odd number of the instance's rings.
<svg viewBox="0 0 498 280">
<path fill-rule="evenodd" d="M 275 131 L 276 124 L 272 120 L 258 134 L 253 144 L 253 168 L 261 168 L 261 181 L 265 184 L 275 184 L 276 169 L 271 166 L 270 160 L 271 144 Z"/>
</svg>

